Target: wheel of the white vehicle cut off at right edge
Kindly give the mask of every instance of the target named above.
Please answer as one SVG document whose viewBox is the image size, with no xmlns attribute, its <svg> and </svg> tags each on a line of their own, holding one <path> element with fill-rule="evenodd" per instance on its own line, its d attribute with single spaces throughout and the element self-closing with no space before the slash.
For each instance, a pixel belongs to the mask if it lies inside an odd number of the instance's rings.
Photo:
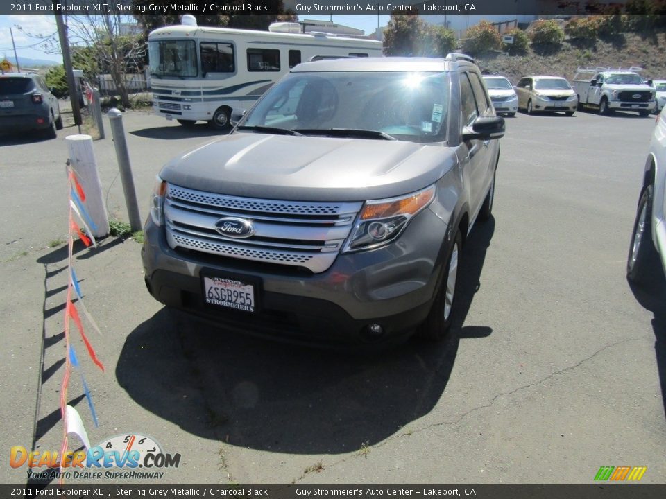
<svg viewBox="0 0 666 499">
<path fill-rule="evenodd" d="M 638 201 L 636 220 L 633 222 L 629 255 L 626 259 L 626 278 L 634 283 L 646 283 L 660 271 L 660 263 L 652 242 L 652 193 L 647 186 Z"/>
</svg>

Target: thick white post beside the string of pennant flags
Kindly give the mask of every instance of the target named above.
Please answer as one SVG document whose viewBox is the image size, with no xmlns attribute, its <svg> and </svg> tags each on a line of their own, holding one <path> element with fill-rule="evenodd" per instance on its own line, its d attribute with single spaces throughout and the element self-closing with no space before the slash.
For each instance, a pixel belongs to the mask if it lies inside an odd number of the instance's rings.
<svg viewBox="0 0 666 499">
<path fill-rule="evenodd" d="M 65 137 L 69 150 L 69 162 L 74 168 L 85 192 L 85 208 L 96 225 L 90 227 L 96 238 L 109 234 L 109 216 L 104 205 L 102 183 L 99 180 L 97 161 L 92 150 L 92 137 L 89 135 L 69 135 Z M 83 214 L 83 213 L 82 213 Z"/>
</svg>

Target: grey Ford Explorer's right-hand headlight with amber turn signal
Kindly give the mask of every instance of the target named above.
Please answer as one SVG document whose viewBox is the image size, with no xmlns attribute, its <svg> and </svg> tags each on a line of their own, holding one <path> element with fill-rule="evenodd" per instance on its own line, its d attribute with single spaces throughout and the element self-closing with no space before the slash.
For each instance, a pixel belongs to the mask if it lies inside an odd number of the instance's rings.
<svg viewBox="0 0 666 499">
<path fill-rule="evenodd" d="M 434 197 L 435 186 L 432 185 L 400 198 L 366 201 L 343 253 L 374 249 L 390 243 Z"/>
</svg>

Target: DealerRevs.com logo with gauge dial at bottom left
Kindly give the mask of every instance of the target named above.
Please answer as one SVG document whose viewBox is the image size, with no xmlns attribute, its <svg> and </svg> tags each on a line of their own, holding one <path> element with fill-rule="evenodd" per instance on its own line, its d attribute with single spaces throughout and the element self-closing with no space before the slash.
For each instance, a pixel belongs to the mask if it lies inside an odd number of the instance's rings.
<svg viewBox="0 0 666 499">
<path fill-rule="evenodd" d="M 18 469 L 27 466 L 28 478 L 119 479 L 164 476 L 166 468 L 178 468 L 180 454 L 167 454 L 151 437 L 117 435 L 87 450 L 29 451 L 24 446 L 10 449 L 9 464 Z M 119 470 L 120 469 L 120 470 Z M 139 471 L 139 469 L 141 469 Z"/>
</svg>

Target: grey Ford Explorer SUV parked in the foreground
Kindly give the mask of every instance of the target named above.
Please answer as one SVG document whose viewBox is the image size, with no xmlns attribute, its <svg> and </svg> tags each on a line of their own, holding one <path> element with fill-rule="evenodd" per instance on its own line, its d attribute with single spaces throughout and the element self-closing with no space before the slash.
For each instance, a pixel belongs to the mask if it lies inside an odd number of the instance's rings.
<svg viewBox="0 0 666 499">
<path fill-rule="evenodd" d="M 464 55 L 298 64 L 231 134 L 162 168 L 146 286 L 271 338 L 441 338 L 503 134 Z"/>
</svg>

